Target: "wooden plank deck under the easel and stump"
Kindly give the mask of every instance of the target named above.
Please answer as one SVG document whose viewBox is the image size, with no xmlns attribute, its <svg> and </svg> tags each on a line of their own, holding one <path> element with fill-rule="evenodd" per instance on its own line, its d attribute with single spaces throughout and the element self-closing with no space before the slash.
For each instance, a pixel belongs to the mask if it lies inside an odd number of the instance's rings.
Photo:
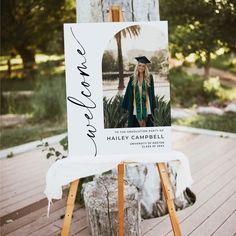
<svg viewBox="0 0 236 236">
<path fill-rule="evenodd" d="M 175 150 L 190 160 L 197 195 L 194 206 L 177 213 L 183 235 L 236 234 L 236 139 L 173 132 Z M 50 218 L 43 195 L 45 173 L 53 162 L 39 150 L 0 161 L 1 236 L 59 235 L 65 199 L 56 201 Z M 173 235 L 168 216 L 142 222 L 145 236 Z M 87 236 L 85 210 L 76 210 L 71 235 Z"/>
</svg>

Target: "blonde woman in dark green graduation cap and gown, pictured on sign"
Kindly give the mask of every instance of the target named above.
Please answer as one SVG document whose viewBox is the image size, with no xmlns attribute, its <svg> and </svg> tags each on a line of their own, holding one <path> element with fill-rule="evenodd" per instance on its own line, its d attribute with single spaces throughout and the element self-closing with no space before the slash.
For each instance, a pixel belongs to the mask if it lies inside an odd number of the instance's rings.
<svg viewBox="0 0 236 236">
<path fill-rule="evenodd" d="M 128 111 L 128 127 L 154 126 L 153 114 L 156 108 L 153 76 L 145 56 L 135 57 L 138 61 L 130 76 L 122 107 Z"/>
</svg>

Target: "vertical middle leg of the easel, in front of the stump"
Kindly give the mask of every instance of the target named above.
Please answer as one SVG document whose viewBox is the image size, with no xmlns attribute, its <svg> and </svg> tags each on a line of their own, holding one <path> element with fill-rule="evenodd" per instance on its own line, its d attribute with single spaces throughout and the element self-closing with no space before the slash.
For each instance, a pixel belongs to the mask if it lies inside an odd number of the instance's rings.
<svg viewBox="0 0 236 236">
<path fill-rule="evenodd" d="M 124 236 L 124 163 L 118 165 L 119 236 Z"/>
</svg>

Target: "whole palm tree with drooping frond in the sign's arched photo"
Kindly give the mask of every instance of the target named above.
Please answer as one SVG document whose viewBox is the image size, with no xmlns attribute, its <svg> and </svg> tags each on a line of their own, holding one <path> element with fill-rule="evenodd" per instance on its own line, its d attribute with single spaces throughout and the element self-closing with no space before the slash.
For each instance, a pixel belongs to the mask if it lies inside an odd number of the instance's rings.
<svg viewBox="0 0 236 236">
<path fill-rule="evenodd" d="M 115 35 L 118 51 L 118 69 L 119 69 L 119 85 L 118 89 L 122 90 L 125 88 L 124 85 L 124 65 L 122 55 L 122 37 L 126 38 L 129 35 L 130 38 L 138 36 L 141 28 L 139 25 L 129 26 Z"/>
</svg>

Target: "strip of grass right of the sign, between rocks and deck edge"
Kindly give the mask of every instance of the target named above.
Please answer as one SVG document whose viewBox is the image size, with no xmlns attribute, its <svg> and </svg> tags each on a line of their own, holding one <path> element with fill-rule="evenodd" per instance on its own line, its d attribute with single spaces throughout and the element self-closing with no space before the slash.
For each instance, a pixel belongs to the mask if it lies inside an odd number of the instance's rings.
<svg viewBox="0 0 236 236">
<path fill-rule="evenodd" d="M 173 120 L 172 124 L 236 133 L 236 114 L 196 115 L 187 119 Z"/>
</svg>

